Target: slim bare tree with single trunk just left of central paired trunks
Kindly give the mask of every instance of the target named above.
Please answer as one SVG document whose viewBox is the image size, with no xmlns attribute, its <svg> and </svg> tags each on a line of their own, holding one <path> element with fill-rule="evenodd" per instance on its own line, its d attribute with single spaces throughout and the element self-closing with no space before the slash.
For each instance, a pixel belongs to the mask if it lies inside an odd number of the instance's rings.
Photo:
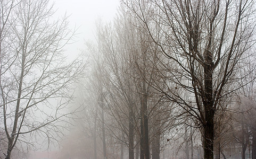
<svg viewBox="0 0 256 159">
<path fill-rule="evenodd" d="M 138 105 L 135 79 L 130 69 L 131 50 L 136 49 L 134 32 L 129 30 L 128 20 L 123 15 L 117 16 L 114 25 L 105 25 L 101 37 L 103 39 L 103 57 L 106 59 L 104 71 L 105 101 L 108 103 L 108 113 L 113 118 L 109 125 L 112 134 L 129 149 L 129 158 L 134 158 L 134 136 L 138 120 L 136 105 Z M 128 37 L 130 36 L 130 37 Z M 127 127 L 128 125 L 128 127 Z M 119 128 L 116 132 L 115 128 Z M 120 133 L 120 131 L 122 133 Z"/>
</svg>

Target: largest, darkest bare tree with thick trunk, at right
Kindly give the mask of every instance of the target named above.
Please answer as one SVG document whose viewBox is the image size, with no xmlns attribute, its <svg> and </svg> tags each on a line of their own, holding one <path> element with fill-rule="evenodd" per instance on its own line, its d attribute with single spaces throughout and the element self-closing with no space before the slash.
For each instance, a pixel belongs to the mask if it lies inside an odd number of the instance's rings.
<svg viewBox="0 0 256 159">
<path fill-rule="evenodd" d="M 154 87 L 199 121 L 204 158 L 213 158 L 214 116 L 224 109 L 220 101 L 238 89 L 230 82 L 254 43 L 254 1 L 123 2 L 166 57 L 160 66 L 168 91 Z"/>
</svg>

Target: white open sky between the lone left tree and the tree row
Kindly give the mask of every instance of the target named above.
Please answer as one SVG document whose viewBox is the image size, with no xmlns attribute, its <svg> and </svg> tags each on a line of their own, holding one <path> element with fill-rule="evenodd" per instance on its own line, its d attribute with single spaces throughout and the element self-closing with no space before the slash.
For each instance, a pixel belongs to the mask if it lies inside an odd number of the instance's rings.
<svg viewBox="0 0 256 159">
<path fill-rule="evenodd" d="M 50 0 L 55 2 L 55 16 L 70 15 L 70 28 L 78 28 L 75 43 L 67 46 L 65 53 L 78 55 L 85 48 L 85 40 L 94 40 L 95 20 L 101 17 L 109 22 L 117 13 L 119 0 Z M 71 53 L 72 52 L 72 53 Z"/>
</svg>

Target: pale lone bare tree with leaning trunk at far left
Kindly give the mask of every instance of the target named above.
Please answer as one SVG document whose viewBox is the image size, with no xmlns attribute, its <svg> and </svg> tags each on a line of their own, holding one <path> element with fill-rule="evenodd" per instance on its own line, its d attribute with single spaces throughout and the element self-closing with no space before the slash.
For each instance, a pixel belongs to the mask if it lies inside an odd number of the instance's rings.
<svg viewBox="0 0 256 159">
<path fill-rule="evenodd" d="M 11 157 L 17 142 L 57 140 L 67 121 L 72 84 L 85 64 L 65 62 L 63 47 L 72 38 L 67 17 L 53 21 L 48 1 L 1 1 L 1 130 Z M 76 111 L 76 110 L 74 110 Z"/>
</svg>

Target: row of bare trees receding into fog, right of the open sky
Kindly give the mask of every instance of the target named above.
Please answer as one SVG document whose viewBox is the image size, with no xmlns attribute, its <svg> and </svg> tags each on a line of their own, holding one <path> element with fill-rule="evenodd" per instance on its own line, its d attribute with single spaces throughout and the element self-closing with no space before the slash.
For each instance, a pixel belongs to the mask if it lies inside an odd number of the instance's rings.
<svg viewBox="0 0 256 159">
<path fill-rule="evenodd" d="M 123 158 L 125 145 L 158 159 L 174 145 L 186 158 L 240 147 L 255 158 L 254 3 L 122 1 L 112 23 L 98 21 L 82 95 L 92 156 L 119 147 Z"/>
</svg>

